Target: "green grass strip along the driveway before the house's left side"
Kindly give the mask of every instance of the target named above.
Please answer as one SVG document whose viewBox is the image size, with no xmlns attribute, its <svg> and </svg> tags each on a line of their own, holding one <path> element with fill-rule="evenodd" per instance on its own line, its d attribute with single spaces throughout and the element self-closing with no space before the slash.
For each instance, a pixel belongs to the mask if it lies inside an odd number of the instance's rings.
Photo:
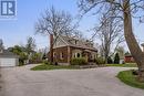
<svg viewBox="0 0 144 96">
<path fill-rule="evenodd" d="M 78 67 L 69 65 L 69 66 L 62 66 L 62 65 L 50 65 L 50 64 L 41 64 L 38 66 L 32 67 L 32 71 L 49 71 L 49 70 L 76 70 Z"/>
</svg>

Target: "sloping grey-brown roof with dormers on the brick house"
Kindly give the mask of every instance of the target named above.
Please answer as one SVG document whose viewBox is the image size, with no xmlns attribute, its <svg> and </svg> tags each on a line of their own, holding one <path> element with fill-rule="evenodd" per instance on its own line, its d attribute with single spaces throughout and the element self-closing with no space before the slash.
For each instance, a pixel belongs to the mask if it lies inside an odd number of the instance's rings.
<svg viewBox="0 0 144 96">
<path fill-rule="evenodd" d="M 93 47 L 93 43 L 91 43 L 90 41 L 80 40 L 80 39 L 70 38 L 70 36 L 62 36 L 62 35 L 61 35 L 61 39 L 63 39 L 69 46 L 97 51 L 95 47 Z"/>
</svg>

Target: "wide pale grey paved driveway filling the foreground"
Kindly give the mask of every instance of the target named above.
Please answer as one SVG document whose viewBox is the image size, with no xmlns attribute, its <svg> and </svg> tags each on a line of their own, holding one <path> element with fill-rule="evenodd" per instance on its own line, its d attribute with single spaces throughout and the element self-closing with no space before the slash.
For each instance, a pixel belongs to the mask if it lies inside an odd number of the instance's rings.
<svg viewBox="0 0 144 96">
<path fill-rule="evenodd" d="M 2 68 L 0 96 L 144 96 L 144 90 L 115 77 L 127 67 L 34 72 L 29 70 L 32 66 Z"/>
</svg>

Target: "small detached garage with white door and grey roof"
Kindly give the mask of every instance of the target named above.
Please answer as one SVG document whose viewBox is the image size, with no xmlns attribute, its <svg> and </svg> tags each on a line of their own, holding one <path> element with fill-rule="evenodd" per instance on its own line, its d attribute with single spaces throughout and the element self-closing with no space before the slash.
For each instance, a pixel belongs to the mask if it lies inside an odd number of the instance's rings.
<svg viewBox="0 0 144 96">
<path fill-rule="evenodd" d="M 19 65 L 19 56 L 7 50 L 0 51 L 0 67 Z"/>
</svg>

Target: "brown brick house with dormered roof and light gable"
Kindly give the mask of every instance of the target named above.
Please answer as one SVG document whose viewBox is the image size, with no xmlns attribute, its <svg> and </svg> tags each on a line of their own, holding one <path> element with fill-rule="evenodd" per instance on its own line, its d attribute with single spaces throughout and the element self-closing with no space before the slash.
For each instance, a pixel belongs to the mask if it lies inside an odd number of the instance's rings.
<svg viewBox="0 0 144 96">
<path fill-rule="evenodd" d="M 71 60 L 75 57 L 84 57 L 88 62 L 93 62 L 97 56 L 97 50 L 90 41 L 62 35 L 56 41 L 53 38 L 50 39 L 50 41 L 54 42 L 53 62 L 58 62 L 59 64 L 69 65 Z"/>
</svg>

